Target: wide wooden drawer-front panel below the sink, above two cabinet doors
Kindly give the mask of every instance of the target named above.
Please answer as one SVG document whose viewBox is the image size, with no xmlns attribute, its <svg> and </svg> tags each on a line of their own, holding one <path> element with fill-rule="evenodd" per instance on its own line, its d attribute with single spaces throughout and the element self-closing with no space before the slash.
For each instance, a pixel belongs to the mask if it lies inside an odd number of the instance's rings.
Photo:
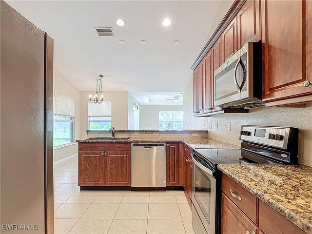
<svg viewBox="0 0 312 234">
<path fill-rule="evenodd" d="M 78 149 L 79 151 L 131 150 L 131 143 L 117 143 L 117 142 L 79 143 Z"/>
</svg>

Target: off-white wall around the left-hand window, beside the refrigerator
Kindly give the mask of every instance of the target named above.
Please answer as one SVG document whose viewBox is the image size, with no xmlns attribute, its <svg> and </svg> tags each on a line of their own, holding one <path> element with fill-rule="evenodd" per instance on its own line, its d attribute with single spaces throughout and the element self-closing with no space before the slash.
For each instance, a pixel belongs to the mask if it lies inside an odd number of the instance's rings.
<svg viewBox="0 0 312 234">
<path fill-rule="evenodd" d="M 81 91 L 72 84 L 67 78 L 65 78 L 58 69 L 54 68 L 53 77 L 53 92 L 56 95 L 71 98 L 76 100 L 76 117 L 75 117 L 75 138 L 80 138 L 80 96 Z M 75 142 L 72 145 L 64 146 L 54 150 L 54 162 L 61 160 L 65 157 L 72 156 L 78 153 L 78 144 Z"/>
</svg>

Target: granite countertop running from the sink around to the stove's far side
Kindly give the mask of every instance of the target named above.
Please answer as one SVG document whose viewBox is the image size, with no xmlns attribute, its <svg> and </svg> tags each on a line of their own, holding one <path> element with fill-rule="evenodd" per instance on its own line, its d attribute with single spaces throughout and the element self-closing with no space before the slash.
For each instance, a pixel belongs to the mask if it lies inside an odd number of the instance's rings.
<svg viewBox="0 0 312 234">
<path fill-rule="evenodd" d="M 135 136 L 129 139 L 114 139 L 114 140 L 102 140 L 102 139 L 84 139 L 76 140 L 76 142 L 184 142 L 191 148 L 224 148 L 224 149 L 239 149 L 237 145 L 232 145 L 223 141 L 215 140 L 212 138 L 204 137 L 140 137 Z"/>
</svg>

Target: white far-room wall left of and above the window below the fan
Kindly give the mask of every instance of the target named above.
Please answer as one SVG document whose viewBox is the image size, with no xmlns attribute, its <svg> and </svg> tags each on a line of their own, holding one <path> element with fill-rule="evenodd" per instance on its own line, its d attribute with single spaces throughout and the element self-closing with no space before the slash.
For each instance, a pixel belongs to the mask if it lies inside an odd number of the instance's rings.
<svg viewBox="0 0 312 234">
<path fill-rule="evenodd" d="M 183 111 L 183 106 L 141 106 L 140 130 L 159 130 L 159 111 Z"/>
</svg>

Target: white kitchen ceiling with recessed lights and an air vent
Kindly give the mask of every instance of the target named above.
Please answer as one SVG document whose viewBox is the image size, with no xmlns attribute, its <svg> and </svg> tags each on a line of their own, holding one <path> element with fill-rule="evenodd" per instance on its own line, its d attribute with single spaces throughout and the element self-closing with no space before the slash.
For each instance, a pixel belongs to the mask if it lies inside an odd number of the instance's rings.
<svg viewBox="0 0 312 234">
<path fill-rule="evenodd" d="M 54 39 L 55 67 L 81 91 L 183 91 L 221 4 L 215 1 L 7 1 Z M 119 27 L 115 20 L 123 19 Z M 169 18 L 169 27 L 162 20 Z M 98 37 L 95 27 L 113 27 Z M 146 45 L 140 45 L 140 40 Z M 125 40 L 120 45 L 119 40 Z M 179 40 L 179 45 L 173 45 Z M 174 95 L 173 92 L 170 93 Z"/>
</svg>

